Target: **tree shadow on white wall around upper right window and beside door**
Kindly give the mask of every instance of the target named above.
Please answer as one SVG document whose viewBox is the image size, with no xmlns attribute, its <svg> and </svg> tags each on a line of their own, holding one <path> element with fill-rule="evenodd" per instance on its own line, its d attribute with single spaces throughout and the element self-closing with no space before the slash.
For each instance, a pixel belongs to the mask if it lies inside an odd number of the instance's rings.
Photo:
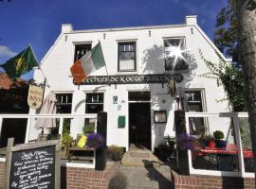
<svg viewBox="0 0 256 189">
<path fill-rule="evenodd" d="M 168 72 L 165 71 L 165 58 L 164 58 L 164 46 L 163 45 L 154 45 L 152 48 L 146 49 L 143 52 L 144 56 L 142 58 L 142 64 L 139 68 L 142 74 L 163 74 Z M 184 77 L 181 83 L 177 83 L 176 87 L 188 88 L 193 77 L 195 77 L 195 70 L 197 68 L 196 61 L 194 56 L 190 52 L 183 54 L 185 62 L 188 64 L 189 69 L 185 74 L 182 74 Z M 178 74 L 181 72 L 175 72 Z M 157 83 L 149 84 L 150 91 L 152 93 L 152 111 L 154 110 L 167 110 L 168 121 L 167 124 L 155 124 L 154 119 L 152 120 L 152 125 L 155 130 L 155 144 L 153 146 L 158 146 L 158 144 L 165 143 L 164 133 L 167 128 L 170 127 L 174 130 L 174 107 L 175 107 L 175 97 L 172 97 L 169 93 L 167 83 Z M 175 96 L 175 95 L 174 95 Z M 169 111 L 169 112 L 168 112 Z M 153 112 L 152 112 L 153 114 Z M 173 119 L 173 120 L 170 120 Z"/>
</svg>

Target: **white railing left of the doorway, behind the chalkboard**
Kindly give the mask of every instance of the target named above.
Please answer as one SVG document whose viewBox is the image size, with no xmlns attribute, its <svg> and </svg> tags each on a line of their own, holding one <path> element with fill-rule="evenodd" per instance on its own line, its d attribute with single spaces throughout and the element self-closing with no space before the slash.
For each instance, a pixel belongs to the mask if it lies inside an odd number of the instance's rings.
<svg viewBox="0 0 256 189">
<path fill-rule="evenodd" d="M 1 133 L 4 131 L 2 130 L 3 126 L 3 119 L 5 118 L 11 118 L 11 119 L 19 119 L 19 118 L 25 118 L 27 119 L 27 130 L 26 130 L 26 137 L 25 137 L 25 144 L 29 143 L 36 138 L 31 137 L 31 135 L 36 135 L 33 132 L 34 125 L 36 122 L 36 119 L 38 118 L 56 118 L 60 119 L 59 122 L 59 131 L 58 133 L 63 134 L 63 129 L 64 129 L 64 119 L 75 119 L 75 118 L 80 118 L 80 119 L 85 119 L 85 118 L 97 118 L 97 114 L 69 114 L 69 113 L 62 113 L 62 114 L 0 114 L 0 136 Z M 71 123 L 70 123 L 71 124 Z M 72 126 L 70 126 L 71 128 Z M 97 128 L 97 122 L 95 122 L 95 128 Z M 32 131 L 31 131 L 32 130 Z M 70 130 L 72 133 L 72 130 Z M 38 133 L 37 133 L 38 134 Z M 5 158 L 0 158 L 0 162 L 5 162 Z M 73 167 L 86 167 L 86 168 L 95 168 L 95 152 L 94 152 L 94 158 L 93 158 L 93 163 L 62 163 L 63 166 L 73 166 Z"/>
</svg>

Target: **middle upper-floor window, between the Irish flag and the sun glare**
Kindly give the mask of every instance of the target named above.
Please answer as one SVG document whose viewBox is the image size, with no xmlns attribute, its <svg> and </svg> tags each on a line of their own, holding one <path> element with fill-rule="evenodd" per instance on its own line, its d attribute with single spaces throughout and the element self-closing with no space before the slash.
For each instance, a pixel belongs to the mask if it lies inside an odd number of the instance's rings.
<svg viewBox="0 0 256 189">
<path fill-rule="evenodd" d="M 136 43 L 119 43 L 119 72 L 136 71 Z"/>
</svg>

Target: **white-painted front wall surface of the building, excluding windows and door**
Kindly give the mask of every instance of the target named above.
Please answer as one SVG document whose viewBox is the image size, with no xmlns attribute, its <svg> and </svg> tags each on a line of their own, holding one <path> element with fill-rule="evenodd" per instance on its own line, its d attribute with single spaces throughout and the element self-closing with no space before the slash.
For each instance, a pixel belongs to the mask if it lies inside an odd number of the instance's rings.
<svg viewBox="0 0 256 189">
<path fill-rule="evenodd" d="M 190 23 L 189 23 L 190 24 Z M 192 30 L 193 28 L 193 34 Z M 149 37 L 149 30 L 151 37 Z M 103 34 L 105 33 L 105 39 Z M 123 74 L 163 74 L 163 38 L 185 37 L 186 46 L 190 50 L 191 59 L 189 63 L 191 69 L 189 74 L 184 75 L 184 80 L 179 85 L 186 88 L 204 89 L 206 111 L 207 112 L 227 112 L 228 103 L 218 103 L 225 97 L 222 87 L 218 87 L 216 80 L 199 77 L 199 75 L 209 72 L 203 60 L 199 56 L 199 48 L 208 60 L 218 61 L 215 55 L 215 46 L 209 42 L 202 30 L 196 25 L 180 26 L 160 26 L 146 28 L 126 28 L 126 29 L 102 29 L 97 31 L 70 31 L 61 33 L 57 41 L 47 52 L 42 60 L 42 69 L 53 92 L 72 92 L 73 105 L 72 113 L 81 114 L 85 112 L 84 97 L 86 92 L 104 93 L 104 111 L 108 112 L 107 144 L 128 147 L 128 91 L 151 91 L 152 95 L 152 115 L 155 110 L 167 110 L 167 124 L 155 124 L 152 116 L 152 140 L 153 146 L 157 146 L 164 135 L 174 136 L 174 97 L 168 94 L 166 84 L 162 88 L 161 84 L 137 84 L 137 85 L 81 85 L 73 84 L 73 79 L 69 68 L 74 61 L 74 50 L 76 43 L 91 43 L 94 46 L 101 40 L 102 51 L 109 75 Z M 137 72 L 118 73 L 118 42 L 137 42 Z M 105 67 L 95 72 L 93 75 L 106 75 Z M 35 71 L 34 78 L 43 81 L 39 71 Z M 119 96 L 119 104 L 112 103 L 113 95 Z M 120 107 L 120 108 L 119 108 Z M 119 115 L 126 115 L 125 129 L 118 129 Z M 72 126 L 72 135 L 76 136 L 81 128 Z"/>
</svg>

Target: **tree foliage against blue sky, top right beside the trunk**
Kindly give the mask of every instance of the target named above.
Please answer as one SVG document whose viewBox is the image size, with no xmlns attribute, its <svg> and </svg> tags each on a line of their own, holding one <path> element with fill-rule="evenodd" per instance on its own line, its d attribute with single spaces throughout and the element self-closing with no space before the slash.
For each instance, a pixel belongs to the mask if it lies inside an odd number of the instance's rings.
<svg viewBox="0 0 256 189">
<path fill-rule="evenodd" d="M 218 49 L 238 63 L 236 1 L 228 0 L 227 7 L 220 10 L 216 19 L 214 43 Z M 237 64 L 238 66 L 239 64 Z"/>
</svg>

